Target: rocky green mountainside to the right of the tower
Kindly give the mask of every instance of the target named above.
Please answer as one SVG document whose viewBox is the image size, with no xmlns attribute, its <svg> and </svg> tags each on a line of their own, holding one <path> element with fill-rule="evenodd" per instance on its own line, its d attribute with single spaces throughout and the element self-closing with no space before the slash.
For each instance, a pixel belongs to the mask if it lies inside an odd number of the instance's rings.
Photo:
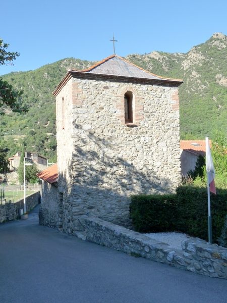
<svg viewBox="0 0 227 303">
<path fill-rule="evenodd" d="M 227 132 L 227 36 L 215 33 L 187 54 L 153 52 L 128 60 L 161 76 L 181 78 L 182 139 L 204 138 L 213 129 Z"/>
</svg>

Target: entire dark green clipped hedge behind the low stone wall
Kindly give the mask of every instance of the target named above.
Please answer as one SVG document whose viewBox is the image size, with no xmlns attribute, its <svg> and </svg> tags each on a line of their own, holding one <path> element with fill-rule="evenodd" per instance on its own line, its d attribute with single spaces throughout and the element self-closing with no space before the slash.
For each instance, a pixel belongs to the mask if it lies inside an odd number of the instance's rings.
<svg viewBox="0 0 227 303">
<path fill-rule="evenodd" d="M 130 218 L 139 232 L 181 231 L 208 240 L 207 190 L 180 186 L 172 195 L 135 195 Z M 213 241 L 218 242 L 227 214 L 227 190 L 211 194 Z"/>
</svg>

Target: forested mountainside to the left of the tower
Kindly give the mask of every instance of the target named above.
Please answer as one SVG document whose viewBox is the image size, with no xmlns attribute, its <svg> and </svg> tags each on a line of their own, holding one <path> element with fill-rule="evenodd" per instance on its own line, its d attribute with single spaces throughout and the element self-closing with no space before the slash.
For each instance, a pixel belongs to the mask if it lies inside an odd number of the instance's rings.
<svg viewBox="0 0 227 303">
<path fill-rule="evenodd" d="M 69 68 L 84 69 L 93 62 L 67 58 L 37 70 L 10 73 L 4 80 L 22 89 L 27 114 L 6 111 L 0 116 L 0 146 L 8 147 L 8 155 L 21 150 L 38 151 L 50 161 L 56 161 L 55 97 L 52 91 Z"/>
</svg>

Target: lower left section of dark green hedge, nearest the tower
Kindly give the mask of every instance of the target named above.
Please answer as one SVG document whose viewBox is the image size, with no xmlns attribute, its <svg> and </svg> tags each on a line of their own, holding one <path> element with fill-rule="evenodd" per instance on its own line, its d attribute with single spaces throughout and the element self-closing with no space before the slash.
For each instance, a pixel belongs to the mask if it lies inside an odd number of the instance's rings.
<svg viewBox="0 0 227 303">
<path fill-rule="evenodd" d="M 175 229 L 176 194 L 134 195 L 130 218 L 136 231 L 158 232 Z"/>
</svg>

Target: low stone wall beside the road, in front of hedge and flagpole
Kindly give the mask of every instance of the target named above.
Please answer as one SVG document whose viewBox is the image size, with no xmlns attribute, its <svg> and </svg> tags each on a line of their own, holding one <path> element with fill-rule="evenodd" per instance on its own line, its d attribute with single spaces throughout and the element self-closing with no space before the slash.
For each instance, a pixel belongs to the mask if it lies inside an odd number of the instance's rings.
<svg viewBox="0 0 227 303">
<path fill-rule="evenodd" d="M 76 236 L 107 247 L 169 264 L 210 277 L 227 279 L 227 248 L 195 238 L 183 241 L 182 249 L 151 239 L 98 218 L 78 216 L 74 226 Z"/>
</svg>

